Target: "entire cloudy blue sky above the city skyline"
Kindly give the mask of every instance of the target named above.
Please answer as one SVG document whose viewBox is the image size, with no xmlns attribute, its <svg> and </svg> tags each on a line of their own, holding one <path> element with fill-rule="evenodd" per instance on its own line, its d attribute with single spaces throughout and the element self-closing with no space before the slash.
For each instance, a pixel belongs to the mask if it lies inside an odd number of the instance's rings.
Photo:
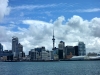
<svg viewBox="0 0 100 75">
<path fill-rule="evenodd" d="M 0 43 L 4 50 L 12 49 L 12 37 L 19 38 L 28 54 L 30 49 L 45 46 L 78 45 L 82 41 L 86 52 L 100 52 L 99 0 L 0 0 Z"/>
</svg>

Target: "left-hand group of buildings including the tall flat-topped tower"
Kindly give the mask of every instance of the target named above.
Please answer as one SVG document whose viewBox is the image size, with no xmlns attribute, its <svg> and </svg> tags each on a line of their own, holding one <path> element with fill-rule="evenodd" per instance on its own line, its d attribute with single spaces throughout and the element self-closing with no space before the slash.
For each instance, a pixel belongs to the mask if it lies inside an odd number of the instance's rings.
<svg viewBox="0 0 100 75">
<path fill-rule="evenodd" d="M 12 37 L 12 50 L 3 50 L 0 43 L 0 61 L 17 61 L 25 57 L 23 46 L 19 43 L 18 37 Z"/>
</svg>

